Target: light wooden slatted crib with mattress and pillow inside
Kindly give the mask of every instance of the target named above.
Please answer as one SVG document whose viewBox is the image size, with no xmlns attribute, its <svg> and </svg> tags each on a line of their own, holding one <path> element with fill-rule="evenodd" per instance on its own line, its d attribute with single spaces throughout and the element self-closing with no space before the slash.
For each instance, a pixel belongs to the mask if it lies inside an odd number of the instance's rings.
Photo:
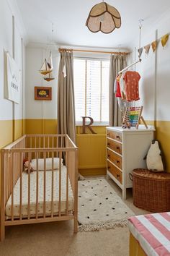
<svg viewBox="0 0 170 256">
<path fill-rule="evenodd" d="M 5 226 L 27 223 L 73 219 L 77 232 L 77 151 L 68 135 L 24 135 L 1 150 L 1 241 Z"/>
</svg>

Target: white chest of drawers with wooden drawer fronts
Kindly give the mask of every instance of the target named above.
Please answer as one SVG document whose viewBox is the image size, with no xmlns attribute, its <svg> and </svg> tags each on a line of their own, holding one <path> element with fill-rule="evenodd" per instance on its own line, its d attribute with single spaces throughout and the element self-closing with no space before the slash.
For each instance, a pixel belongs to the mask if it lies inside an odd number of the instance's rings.
<svg viewBox="0 0 170 256">
<path fill-rule="evenodd" d="M 107 127 L 107 175 L 122 189 L 126 199 L 126 189 L 133 187 L 130 173 L 135 168 L 146 168 L 146 156 L 153 140 L 153 126 L 143 125 L 139 129 Z"/>
</svg>

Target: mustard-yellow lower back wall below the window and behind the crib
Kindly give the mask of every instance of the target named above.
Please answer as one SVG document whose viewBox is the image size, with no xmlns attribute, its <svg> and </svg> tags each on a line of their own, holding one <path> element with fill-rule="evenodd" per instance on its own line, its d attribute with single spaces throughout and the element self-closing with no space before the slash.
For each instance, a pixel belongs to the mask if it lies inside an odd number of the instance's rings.
<svg viewBox="0 0 170 256">
<path fill-rule="evenodd" d="M 26 134 L 56 134 L 56 119 L 25 119 Z M 81 135 L 76 127 L 76 145 L 79 147 L 79 171 L 82 175 L 106 174 L 106 128 L 93 127 L 97 134 Z"/>
</svg>

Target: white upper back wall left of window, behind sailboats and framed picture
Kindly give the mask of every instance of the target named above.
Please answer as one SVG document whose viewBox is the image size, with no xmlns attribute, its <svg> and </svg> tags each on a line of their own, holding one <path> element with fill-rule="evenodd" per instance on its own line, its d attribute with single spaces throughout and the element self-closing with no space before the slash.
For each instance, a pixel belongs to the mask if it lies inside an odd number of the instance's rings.
<svg viewBox="0 0 170 256">
<path fill-rule="evenodd" d="M 26 48 L 26 87 L 25 87 L 25 118 L 56 119 L 57 118 L 57 85 L 58 85 L 58 48 L 49 46 L 27 46 Z M 52 51 L 53 76 L 55 80 L 47 82 L 39 70 L 45 58 Z M 35 86 L 52 87 L 52 101 L 35 101 Z"/>
</svg>

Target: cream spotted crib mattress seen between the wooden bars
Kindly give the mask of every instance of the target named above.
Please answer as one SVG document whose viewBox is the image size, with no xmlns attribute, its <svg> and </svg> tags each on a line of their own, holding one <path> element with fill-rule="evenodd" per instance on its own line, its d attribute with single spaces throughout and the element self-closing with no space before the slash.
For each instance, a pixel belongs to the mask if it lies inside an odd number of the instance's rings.
<svg viewBox="0 0 170 256">
<path fill-rule="evenodd" d="M 35 217 L 36 214 L 36 183 L 37 172 L 33 171 L 30 174 L 30 217 Z M 46 186 L 45 186 L 45 215 L 51 214 L 51 196 L 52 196 L 52 171 L 46 171 Z M 53 214 L 58 214 L 59 206 L 59 171 L 53 171 Z M 73 210 L 74 199 L 71 183 L 68 178 L 68 210 Z M 14 218 L 19 218 L 20 211 L 20 178 L 14 186 Z M 43 216 L 44 213 L 44 171 L 38 172 L 38 216 Z M 61 213 L 66 212 L 66 166 L 61 169 Z M 22 174 L 22 218 L 27 218 L 28 215 L 28 174 Z M 6 219 L 12 218 L 12 195 L 6 203 Z"/>
</svg>

